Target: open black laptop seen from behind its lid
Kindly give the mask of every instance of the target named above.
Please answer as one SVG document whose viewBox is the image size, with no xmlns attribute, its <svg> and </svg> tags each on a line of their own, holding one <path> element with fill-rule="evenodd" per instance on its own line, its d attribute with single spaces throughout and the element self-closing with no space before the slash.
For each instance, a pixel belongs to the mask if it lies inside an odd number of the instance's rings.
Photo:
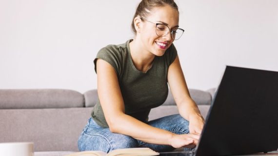
<svg viewBox="0 0 278 156">
<path fill-rule="evenodd" d="M 278 150 L 278 72 L 226 66 L 199 144 L 160 156 L 229 156 Z"/>
</svg>

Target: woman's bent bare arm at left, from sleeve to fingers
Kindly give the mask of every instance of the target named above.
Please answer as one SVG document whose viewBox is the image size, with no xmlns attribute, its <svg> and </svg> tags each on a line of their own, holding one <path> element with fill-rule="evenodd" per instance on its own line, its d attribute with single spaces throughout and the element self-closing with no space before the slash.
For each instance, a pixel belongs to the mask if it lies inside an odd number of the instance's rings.
<svg viewBox="0 0 278 156">
<path fill-rule="evenodd" d="M 131 136 L 148 143 L 173 146 L 173 142 L 177 140 L 175 134 L 152 127 L 124 113 L 124 102 L 117 74 L 108 62 L 98 59 L 97 73 L 99 100 L 111 132 Z M 192 142 L 194 142 L 193 138 L 184 137 L 180 146 Z"/>
</svg>

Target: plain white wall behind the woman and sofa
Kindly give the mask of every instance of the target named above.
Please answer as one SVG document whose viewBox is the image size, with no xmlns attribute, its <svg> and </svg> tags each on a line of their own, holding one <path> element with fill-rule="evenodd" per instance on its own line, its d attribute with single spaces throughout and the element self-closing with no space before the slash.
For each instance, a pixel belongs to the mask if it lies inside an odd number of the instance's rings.
<svg viewBox="0 0 278 156">
<path fill-rule="evenodd" d="M 0 0 L 0 88 L 97 88 L 93 59 L 133 37 L 139 1 Z M 225 65 L 278 71 L 278 0 L 176 1 L 190 88 L 216 87 Z"/>
</svg>

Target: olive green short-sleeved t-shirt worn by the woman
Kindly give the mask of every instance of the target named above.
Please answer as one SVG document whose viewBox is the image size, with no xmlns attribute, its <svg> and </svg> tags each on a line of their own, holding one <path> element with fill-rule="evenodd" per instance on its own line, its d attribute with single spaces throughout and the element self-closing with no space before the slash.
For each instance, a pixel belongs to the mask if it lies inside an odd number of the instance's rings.
<svg viewBox="0 0 278 156">
<path fill-rule="evenodd" d="M 161 57 L 156 56 L 152 67 L 147 72 L 141 72 L 133 64 L 129 43 L 108 45 L 99 50 L 94 60 L 95 71 L 97 59 L 103 59 L 114 67 L 122 98 L 125 114 L 147 122 L 151 108 L 158 107 L 167 98 L 167 73 L 170 64 L 177 57 L 177 50 L 172 44 Z M 101 127 L 108 127 L 99 99 L 92 111 L 92 118 Z"/>
</svg>

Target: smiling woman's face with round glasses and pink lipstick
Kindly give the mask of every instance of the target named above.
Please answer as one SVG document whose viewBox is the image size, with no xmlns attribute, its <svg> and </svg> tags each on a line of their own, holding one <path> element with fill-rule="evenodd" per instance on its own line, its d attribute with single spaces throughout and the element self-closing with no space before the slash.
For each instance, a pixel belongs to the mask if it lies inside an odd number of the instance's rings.
<svg viewBox="0 0 278 156">
<path fill-rule="evenodd" d="M 142 20 L 140 38 L 144 46 L 143 48 L 153 55 L 162 56 L 174 39 L 172 39 L 171 32 L 166 36 L 159 37 L 156 33 L 156 24 L 154 23 L 166 24 L 172 30 L 179 25 L 179 12 L 166 5 L 154 8 L 152 13 L 145 20 Z"/>
</svg>

